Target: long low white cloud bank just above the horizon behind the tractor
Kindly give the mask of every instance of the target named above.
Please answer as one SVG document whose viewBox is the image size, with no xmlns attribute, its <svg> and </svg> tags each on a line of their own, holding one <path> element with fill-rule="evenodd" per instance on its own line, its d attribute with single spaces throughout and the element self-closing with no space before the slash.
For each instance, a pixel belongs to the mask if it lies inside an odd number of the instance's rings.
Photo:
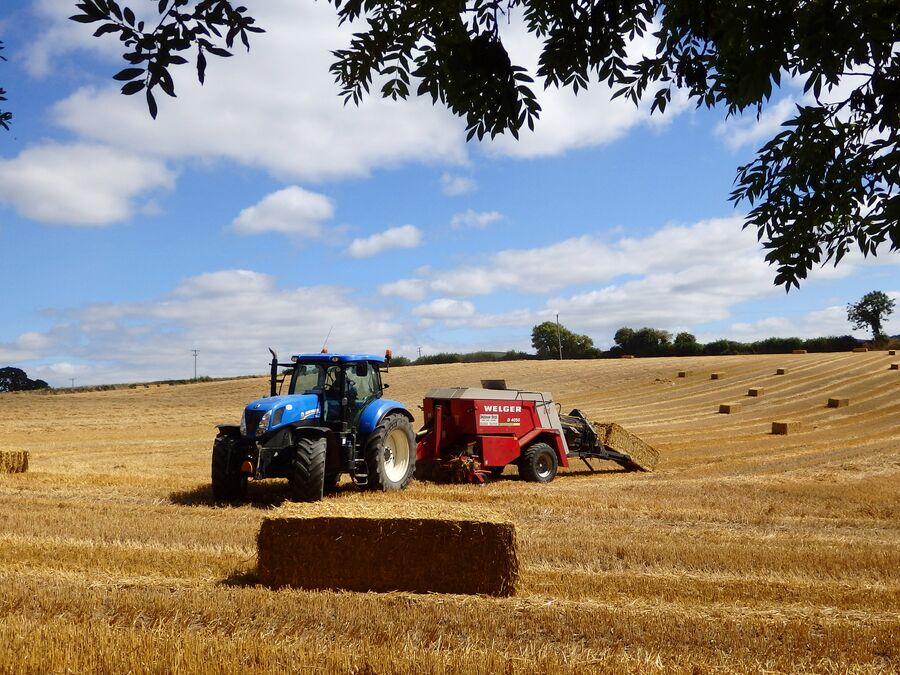
<svg viewBox="0 0 900 675">
<path fill-rule="evenodd" d="M 318 351 L 332 326 L 333 351 L 390 347 L 399 325 L 348 295 L 331 286 L 284 288 L 250 270 L 212 272 L 148 302 L 56 312 L 51 329 L 0 343 L 0 361 L 22 363 L 30 377 L 68 386 L 69 377 L 81 384 L 191 377 L 191 349 L 200 350 L 201 375 L 260 373 L 267 347 L 282 356 Z"/>
</svg>

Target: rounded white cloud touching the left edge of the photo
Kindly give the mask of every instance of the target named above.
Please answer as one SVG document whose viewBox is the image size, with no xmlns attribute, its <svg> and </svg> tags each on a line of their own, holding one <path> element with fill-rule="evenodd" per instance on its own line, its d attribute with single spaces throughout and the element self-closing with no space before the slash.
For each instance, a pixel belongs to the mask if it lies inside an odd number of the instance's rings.
<svg viewBox="0 0 900 675">
<path fill-rule="evenodd" d="M 0 201 L 55 225 L 127 220 L 139 196 L 174 185 L 174 172 L 159 160 L 103 145 L 45 143 L 0 159 Z"/>
</svg>

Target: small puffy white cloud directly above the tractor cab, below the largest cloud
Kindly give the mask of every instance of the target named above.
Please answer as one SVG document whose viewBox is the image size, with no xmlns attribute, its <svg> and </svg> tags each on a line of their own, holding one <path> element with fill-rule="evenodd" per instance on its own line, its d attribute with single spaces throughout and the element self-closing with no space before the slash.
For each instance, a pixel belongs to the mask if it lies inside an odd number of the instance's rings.
<svg viewBox="0 0 900 675">
<path fill-rule="evenodd" d="M 281 232 L 295 237 L 316 238 L 322 224 L 334 216 L 334 202 L 316 192 L 292 185 L 243 209 L 231 223 L 238 234 Z"/>
</svg>

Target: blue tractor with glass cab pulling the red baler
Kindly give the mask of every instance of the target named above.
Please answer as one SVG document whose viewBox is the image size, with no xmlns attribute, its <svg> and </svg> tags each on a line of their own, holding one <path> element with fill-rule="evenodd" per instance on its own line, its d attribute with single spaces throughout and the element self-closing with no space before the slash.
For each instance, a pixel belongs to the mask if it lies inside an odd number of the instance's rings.
<svg viewBox="0 0 900 675">
<path fill-rule="evenodd" d="M 416 463 L 413 416 L 382 396 L 390 352 L 297 354 L 279 363 L 269 351 L 269 396 L 244 409 L 240 426 L 219 426 L 216 500 L 241 501 L 248 481 L 264 478 L 287 478 L 296 501 L 321 499 L 344 473 L 366 489 L 406 487 Z"/>
</svg>

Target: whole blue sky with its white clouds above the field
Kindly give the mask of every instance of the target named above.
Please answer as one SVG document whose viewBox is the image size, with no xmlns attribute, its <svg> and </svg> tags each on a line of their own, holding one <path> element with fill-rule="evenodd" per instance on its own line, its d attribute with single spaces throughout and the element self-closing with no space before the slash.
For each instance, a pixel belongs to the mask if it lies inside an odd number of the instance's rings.
<svg viewBox="0 0 900 675">
<path fill-rule="evenodd" d="M 786 295 L 741 231 L 735 168 L 798 89 L 727 122 L 550 90 L 535 133 L 467 144 L 430 100 L 343 106 L 328 66 L 348 32 L 326 3 L 247 5 L 268 32 L 203 87 L 176 71 L 153 121 L 110 79 L 118 42 L 66 20 L 74 0 L 4 3 L 0 365 L 56 386 L 181 378 L 199 349 L 200 374 L 247 374 L 329 329 L 335 351 L 529 350 L 557 312 L 604 347 L 621 326 L 834 335 L 862 294 L 900 298 L 886 249 Z"/>
</svg>

